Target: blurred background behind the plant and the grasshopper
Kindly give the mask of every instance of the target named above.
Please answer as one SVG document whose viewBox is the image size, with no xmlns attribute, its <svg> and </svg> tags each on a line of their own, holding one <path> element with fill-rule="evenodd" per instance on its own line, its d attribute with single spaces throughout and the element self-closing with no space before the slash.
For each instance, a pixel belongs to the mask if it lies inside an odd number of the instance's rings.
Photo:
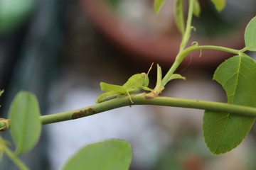
<svg viewBox="0 0 256 170">
<path fill-rule="evenodd" d="M 146 72 L 152 62 L 166 73 L 181 40 L 174 25 L 174 2 L 166 1 L 155 16 L 150 0 L 1 0 L 1 117 L 20 90 L 38 97 L 41 114 L 59 113 L 95 104 L 100 81 L 124 84 Z M 255 16 L 256 1 L 227 0 L 217 13 L 201 1 L 200 18 L 191 42 L 240 49 L 243 32 Z M 251 54 L 254 57 L 253 54 Z M 166 86 L 163 96 L 225 101 L 212 81 L 215 68 L 230 57 L 224 52 L 193 52 L 178 68 L 186 81 Z M 149 74 L 150 87 L 156 67 Z M 220 156 L 210 154 L 202 136 L 203 111 L 159 106 L 118 108 L 87 118 L 43 125 L 41 140 L 22 156 L 30 169 L 61 169 L 81 147 L 110 138 L 133 148 L 131 169 L 255 169 L 255 128 L 242 144 Z M 1 135 L 10 139 L 9 132 Z M 99 160 L 100 164 L 100 160 Z M 16 169 L 8 158 L 0 169 Z"/>
</svg>

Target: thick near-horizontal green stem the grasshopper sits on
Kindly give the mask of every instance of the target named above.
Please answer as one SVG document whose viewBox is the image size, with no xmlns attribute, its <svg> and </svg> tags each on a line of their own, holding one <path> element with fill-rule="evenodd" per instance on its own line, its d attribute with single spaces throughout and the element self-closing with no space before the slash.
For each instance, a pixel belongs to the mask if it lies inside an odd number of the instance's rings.
<svg viewBox="0 0 256 170">
<path fill-rule="evenodd" d="M 228 103 L 220 103 L 214 101 L 199 101 L 183 98 L 160 97 L 146 98 L 146 94 L 132 95 L 132 105 L 158 105 L 158 106 L 174 106 L 182 108 L 198 108 L 207 111 L 215 111 L 218 113 L 233 113 L 237 115 L 246 115 L 256 117 L 256 108 L 248 106 L 238 106 Z M 73 120 L 94 115 L 114 108 L 130 106 L 129 96 L 119 97 L 110 101 L 95 104 L 86 108 L 76 109 L 63 113 L 55 113 L 52 115 L 41 116 L 42 124 L 57 123 L 65 120 Z"/>
</svg>

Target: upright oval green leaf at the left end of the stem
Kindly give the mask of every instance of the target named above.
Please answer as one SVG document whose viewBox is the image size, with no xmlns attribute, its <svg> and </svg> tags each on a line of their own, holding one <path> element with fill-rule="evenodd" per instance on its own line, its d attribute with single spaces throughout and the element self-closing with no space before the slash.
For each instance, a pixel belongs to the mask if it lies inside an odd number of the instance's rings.
<svg viewBox="0 0 256 170">
<path fill-rule="evenodd" d="M 16 153 L 32 149 L 41 134 L 38 101 L 33 94 L 20 91 L 16 94 L 9 110 L 10 130 L 16 145 Z"/>
</svg>

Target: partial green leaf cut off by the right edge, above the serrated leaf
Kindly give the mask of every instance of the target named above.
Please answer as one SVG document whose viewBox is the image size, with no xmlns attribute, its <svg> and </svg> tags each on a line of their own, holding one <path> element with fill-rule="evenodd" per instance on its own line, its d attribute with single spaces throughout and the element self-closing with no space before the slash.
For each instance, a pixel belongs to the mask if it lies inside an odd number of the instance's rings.
<svg viewBox="0 0 256 170">
<path fill-rule="evenodd" d="M 256 51 L 256 16 L 245 29 L 245 48 L 249 51 Z"/>
</svg>

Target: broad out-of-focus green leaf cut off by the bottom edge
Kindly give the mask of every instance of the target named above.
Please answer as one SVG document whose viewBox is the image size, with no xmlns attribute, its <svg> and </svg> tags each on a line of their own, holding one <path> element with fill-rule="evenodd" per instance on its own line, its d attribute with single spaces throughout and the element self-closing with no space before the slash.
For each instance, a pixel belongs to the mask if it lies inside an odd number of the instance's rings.
<svg viewBox="0 0 256 170">
<path fill-rule="evenodd" d="M 64 170 L 127 170 L 132 148 L 124 140 L 105 140 L 80 149 L 64 166 Z"/>
</svg>

